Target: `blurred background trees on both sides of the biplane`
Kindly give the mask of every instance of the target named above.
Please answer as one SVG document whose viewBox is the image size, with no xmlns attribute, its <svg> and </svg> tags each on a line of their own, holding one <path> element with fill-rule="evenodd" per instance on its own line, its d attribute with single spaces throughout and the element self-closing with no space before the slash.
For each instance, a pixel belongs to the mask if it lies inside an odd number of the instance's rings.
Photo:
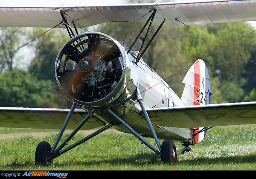
<svg viewBox="0 0 256 179">
<path fill-rule="evenodd" d="M 104 23 L 94 27 L 93 31 L 125 40 L 129 47 L 143 25 Z M 147 40 L 158 26 L 152 25 Z M 0 29 L 0 106 L 70 107 L 70 101 L 40 84 L 60 92 L 54 64 L 59 50 L 69 40 L 67 32 L 53 29 L 30 43 L 30 51 L 25 55 L 21 53 L 25 51 L 23 48 L 21 52 L 13 52 L 44 31 L 41 28 Z M 145 32 L 141 37 L 144 35 Z M 186 72 L 201 58 L 207 64 L 210 75 L 211 103 L 256 101 L 255 42 L 256 32 L 248 23 L 164 25 L 143 55 L 143 60 L 181 96 Z M 140 44 L 138 41 L 132 50 L 138 50 Z"/>
</svg>

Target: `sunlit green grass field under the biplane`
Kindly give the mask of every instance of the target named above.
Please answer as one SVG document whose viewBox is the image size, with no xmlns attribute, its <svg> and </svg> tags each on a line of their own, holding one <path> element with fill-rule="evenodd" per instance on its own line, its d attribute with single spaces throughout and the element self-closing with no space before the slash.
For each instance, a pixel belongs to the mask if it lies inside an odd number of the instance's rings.
<svg viewBox="0 0 256 179">
<path fill-rule="evenodd" d="M 183 146 L 176 143 L 175 165 L 163 164 L 134 136 L 111 130 L 53 159 L 49 167 L 35 167 L 37 144 L 47 141 L 52 145 L 56 138 L 56 130 L 45 136 L 47 131 L 0 128 L 0 135 L 12 136 L 0 140 L 0 170 L 256 170 L 255 125 L 214 127 L 186 154 L 181 154 Z M 18 134 L 22 135 L 15 137 Z M 70 143 L 86 135 L 79 133 Z M 147 140 L 154 145 L 154 139 Z"/>
</svg>

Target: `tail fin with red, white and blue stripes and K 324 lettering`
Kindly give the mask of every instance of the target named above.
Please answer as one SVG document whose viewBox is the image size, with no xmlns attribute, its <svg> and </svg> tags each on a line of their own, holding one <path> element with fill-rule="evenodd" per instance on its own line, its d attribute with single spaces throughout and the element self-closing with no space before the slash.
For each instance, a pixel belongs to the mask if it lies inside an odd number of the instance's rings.
<svg viewBox="0 0 256 179">
<path fill-rule="evenodd" d="M 198 59 L 189 69 L 185 78 L 182 81 L 185 84 L 181 100 L 187 105 L 205 105 L 210 104 L 210 78 L 207 66 L 204 61 Z M 191 132 L 195 135 L 193 137 L 193 144 L 198 144 L 204 139 L 207 130 L 198 133 L 203 127 L 193 128 Z"/>
</svg>

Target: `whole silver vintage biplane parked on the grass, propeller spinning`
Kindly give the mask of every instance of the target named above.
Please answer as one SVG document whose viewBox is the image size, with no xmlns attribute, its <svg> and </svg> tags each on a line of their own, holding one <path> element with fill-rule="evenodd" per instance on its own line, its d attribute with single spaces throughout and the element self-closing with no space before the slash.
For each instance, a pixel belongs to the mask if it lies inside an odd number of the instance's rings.
<svg viewBox="0 0 256 179">
<path fill-rule="evenodd" d="M 85 3 L 86 4 L 86 3 Z M 117 6 L 0 7 L 0 26 L 58 27 L 70 40 L 55 60 L 55 77 L 70 109 L 0 107 L 0 127 L 59 129 L 54 144 L 42 141 L 35 164 L 49 165 L 56 157 L 113 127 L 131 133 L 163 162 L 177 162 L 176 142 L 183 153 L 192 150 L 210 127 L 256 124 L 256 102 L 210 104 L 207 66 L 198 59 L 188 70 L 179 98 L 145 62 L 143 54 L 163 24 L 172 26 L 233 23 L 256 20 L 256 0 L 195 3 L 145 3 Z M 141 48 L 132 51 L 101 32 L 79 34 L 77 28 L 105 22 L 142 22 L 142 32 L 152 23 L 158 29 Z M 76 35 L 75 35 L 75 33 Z M 71 65 L 70 65 L 71 64 Z M 97 128 L 84 139 L 66 146 L 79 130 Z M 60 144 L 64 130 L 73 132 Z M 145 139 L 154 138 L 155 146 Z M 163 139 L 160 144 L 159 139 Z"/>
</svg>

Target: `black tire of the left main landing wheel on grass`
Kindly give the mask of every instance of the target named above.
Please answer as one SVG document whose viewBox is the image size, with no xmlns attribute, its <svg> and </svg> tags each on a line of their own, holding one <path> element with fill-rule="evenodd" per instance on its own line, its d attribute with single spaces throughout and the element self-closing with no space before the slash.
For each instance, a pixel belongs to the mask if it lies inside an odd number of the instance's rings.
<svg viewBox="0 0 256 179">
<path fill-rule="evenodd" d="M 47 166 L 52 164 L 51 149 L 52 147 L 48 142 L 40 142 L 35 150 L 35 165 Z"/>
</svg>

